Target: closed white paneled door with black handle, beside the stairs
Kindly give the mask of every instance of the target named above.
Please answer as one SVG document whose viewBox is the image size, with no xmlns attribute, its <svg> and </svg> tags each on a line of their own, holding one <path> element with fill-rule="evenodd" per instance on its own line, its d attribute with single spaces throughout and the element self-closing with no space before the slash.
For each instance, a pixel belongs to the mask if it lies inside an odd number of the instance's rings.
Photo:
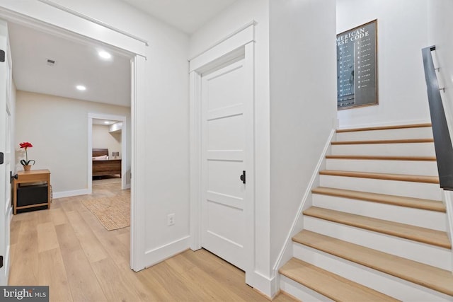
<svg viewBox="0 0 453 302">
<path fill-rule="evenodd" d="M 246 59 L 202 74 L 202 247 L 246 270 L 253 95 Z M 253 143 L 252 143 L 253 144 Z M 245 173 L 245 181 L 241 175 Z M 248 173 L 248 174 L 247 174 Z M 245 183 L 244 183 L 245 182 Z"/>
</svg>

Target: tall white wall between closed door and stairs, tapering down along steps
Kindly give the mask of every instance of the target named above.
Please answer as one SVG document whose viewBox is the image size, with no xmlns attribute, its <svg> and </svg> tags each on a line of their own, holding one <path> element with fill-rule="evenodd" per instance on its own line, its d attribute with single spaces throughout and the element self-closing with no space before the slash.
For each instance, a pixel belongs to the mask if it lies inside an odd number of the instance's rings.
<svg viewBox="0 0 453 302">
<path fill-rule="evenodd" d="M 273 264 L 336 120 L 335 20 L 335 0 L 270 1 Z"/>
</svg>

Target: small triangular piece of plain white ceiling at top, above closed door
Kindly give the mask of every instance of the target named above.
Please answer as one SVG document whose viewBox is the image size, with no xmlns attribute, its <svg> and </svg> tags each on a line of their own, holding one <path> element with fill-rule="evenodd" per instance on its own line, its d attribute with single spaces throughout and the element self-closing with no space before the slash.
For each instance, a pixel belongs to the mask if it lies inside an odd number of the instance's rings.
<svg viewBox="0 0 453 302">
<path fill-rule="evenodd" d="M 236 0 L 122 0 L 191 34 Z"/>
</svg>

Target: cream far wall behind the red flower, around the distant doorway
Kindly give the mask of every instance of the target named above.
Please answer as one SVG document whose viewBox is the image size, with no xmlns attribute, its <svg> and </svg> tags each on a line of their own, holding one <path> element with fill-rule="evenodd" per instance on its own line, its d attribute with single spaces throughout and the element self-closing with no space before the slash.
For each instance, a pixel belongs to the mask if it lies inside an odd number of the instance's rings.
<svg viewBox="0 0 453 302">
<path fill-rule="evenodd" d="M 28 149 L 28 158 L 36 161 L 32 169 L 50 170 L 54 196 L 86 194 L 88 112 L 124 115 L 130 121 L 127 107 L 17 91 L 16 169 L 23 170 L 19 161 L 25 156 L 19 144 L 30 141 L 33 148 Z"/>
</svg>

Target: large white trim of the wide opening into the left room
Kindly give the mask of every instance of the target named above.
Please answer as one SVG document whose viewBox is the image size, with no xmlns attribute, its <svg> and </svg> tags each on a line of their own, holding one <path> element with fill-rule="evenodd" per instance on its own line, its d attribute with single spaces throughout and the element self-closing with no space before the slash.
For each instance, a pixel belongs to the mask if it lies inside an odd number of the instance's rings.
<svg viewBox="0 0 453 302">
<path fill-rule="evenodd" d="M 1 1 L 1 0 L 0 0 Z M 38 3 L 35 1 L 33 6 L 39 6 L 39 9 L 33 10 L 30 7 L 23 9 L 18 2 L 11 2 L 8 5 L 0 7 L 0 18 L 7 22 L 18 23 L 21 25 L 35 28 L 36 30 L 42 30 L 45 33 L 53 35 L 59 35 L 69 40 L 76 42 L 86 43 L 88 45 L 106 45 L 110 49 L 115 49 L 118 54 L 130 57 L 131 62 L 131 137 L 130 137 L 130 163 L 131 171 L 135 177 L 130 179 L 131 185 L 131 227 L 130 227 L 130 267 L 134 271 L 138 272 L 146 267 L 145 262 L 145 216 L 144 216 L 144 198 L 143 192 L 139 192 L 137 187 L 143 188 L 146 185 L 143 183 L 139 176 L 145 175 L 146 171 L 137 164 L 137 155 L 139 149 L 137 144 L 139 141 L 143 141 L 144 133 L 139 131 L 137 126 L 137 119 L 144 120 L 144 116 L 141 110 L 144 98 L 146 98 L 147 81 L 145 66 L 147 62 L 147 47 L 149 44 L 144 39 L 139 39 L 125 33 L 122 30 L 113 28 L 112 26 L 106 26 L 105 23 L 100 23 L 95 19 L 77 13 L 76 11 L 65 10 L 64 6 L 58 6 L 58 13 L 48 13 L 47 8 L 51 8 L 52 5 L 48 3 Z M 11 6 L 11 7 L 10 7 Z M 29 9 L 30 8 L 30 9 Z M 55 8 L 52 8 L 52 11 Z M 25 11 L 25 13 L 23 13 Z M 69 13 L 72 16 L 78 18 L 76 22 L 67 23 L 68 18 L 60 18 L 59 13 Z M 49 19 L 50 18 L 50 19 Z M 97 35 L 91 27 L 85 27 L 84 24 L 90 23 L 94 26 L 101 26 L 105 28 L 102 35 Z M 88 29 L 87 29 L 88 28 Z M 138 102 L 137 100 L 142 100 Z M 91 156 L 90 156 L 91 157 Z M 137 176 L 138 175 L 138 176 Z M 137 180 L 138 179 L 138 180 Z M 143 191 L 143 190 L 142 190 Z M 142 197 L 142 198 L 140 198 Z"/>
</svg>

